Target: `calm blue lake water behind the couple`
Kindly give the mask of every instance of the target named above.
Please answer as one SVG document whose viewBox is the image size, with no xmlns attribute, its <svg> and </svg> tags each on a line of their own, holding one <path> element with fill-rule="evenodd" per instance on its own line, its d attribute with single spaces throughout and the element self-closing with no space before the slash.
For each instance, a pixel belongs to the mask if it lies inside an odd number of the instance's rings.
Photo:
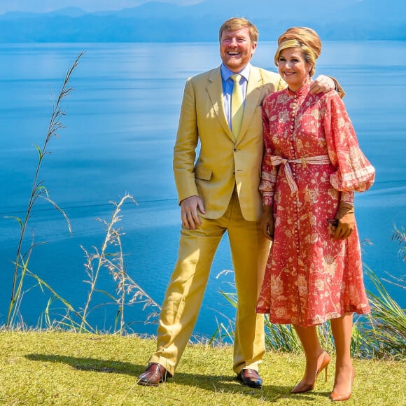
<svg viewBox="0 0 406 406">
<path fill-rule="evenodd" d="M 0 44 L 0 325 L 10 302 L 18 223 L 31 190 L 37 153 L 48 129 L 52 99 L 76 55 L 85 55 L 73 72 L 73 92 L 63 101 L 66 128 L 52 139 L 40 179 L 50 198 L 69 216 L 73 228 L 50 204 L 38 202 L 29 223 L 34 232 L 29 269 L 80 309 L 88 284 L 85 255 L 104 241 L 104 226 L 125 193 L 137 200 L 125 204 L 122 237 L 125 265 L 134 281 L 162 303 L 179 239 L 179 208 L 172 176 L 183 85 L 188 76 L 220 64 L 216 43 L 80 43 Z M 253 64 L 274 69 L 275 43 L 260 43 Z M 356 216 L 364 246 L 363 260 L 379 276 L 405 277 L 406 263 L 391 241 L 394 225 L 406 227 L 406 43 L 389 41 L 323 44 L 316 74 L 335 76 L 363 151 L 377 169 L 377 181 L 356 195 Z M 195 328 L 211 335 L 217 322 L 234 316 L 219 293 L 230 290 L 232 269 L 228 240 L 221 243 Z M 26 279 L 20 307 L 22 320 L 37 325 L 49 293 Z M 367 287 L 372 288 L 368 280 Z M 99 288 L 113 292 L 115 282 L 103 272 Z M 406 307 L 403 290 L 388 285 Z M 60 306 L 59 306 L 60 307 Z M 63 313 L 55 304 L 55 313 Z M 109 329 L 116 311 L 100 307 L 92 322 Z M 136 332 L 155 333 L 143 322 L 140 306 L 127 309 L 126 321 Z"/>
</svg>

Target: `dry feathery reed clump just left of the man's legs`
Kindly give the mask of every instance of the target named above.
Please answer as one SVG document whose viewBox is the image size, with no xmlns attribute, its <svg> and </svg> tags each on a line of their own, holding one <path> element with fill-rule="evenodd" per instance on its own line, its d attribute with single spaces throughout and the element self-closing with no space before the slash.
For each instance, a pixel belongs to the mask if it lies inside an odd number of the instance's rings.
<svg viewBox="0 0 406 406">
<path fill-rule="evenodd" d="M 106 235 L 102 246 L 100 248 L 93 246 L 92 251 L 88 251 L 83 246 L 81 247 L 87 258 L 85 262 L 87 280 L 84 283 L 89 286 L 83 307 L 73 307 L 68 300 L 59 295 L 48 283 L 29 272 L 37 280 L 38 285 L 50 293 L 50 298 L 43 313 L 41 328 L 96 333 L 99 332 L 99 328 L 97 328 L 97 325 L 92 324 L 90 315 L 101 307 L 114 306 L 116 307 L 116 315 L 111 323 L 113 328 L 110 332 L 124 335 L 132 332 L 132 322 L 127 322 L 125 319 L 126 307 L 137 303 L 142 305 L 143 311 L 148 309 L 146 323 L 153 322 L 158 316 L 161 309 L 160 305 L 127 274 L 121 243 L 124 232 L 121 227 L 118 227 L 118 223 L 122 220 L 123 204 L 127 201 L 136 203 L 131 195 L 126 194 L 120 202 L 111 202 L 114 209 L 109 221 L 96 218 L 96 221 L 100 221 L 105 227 Z M 112 281 L 115 283 L 114 293 L 99 288 L 99 278 L 102 272 L 107 272 L 111 276 Z M 104 297 L 104 300 L 102 302 L 97 300 L 96 304 L 93 304 L 95 295 Z M 55 302 L 62 303 L 62 311 L 60 307 L 58 307 L 57 312 L 54 311 Z"/>
</svg>

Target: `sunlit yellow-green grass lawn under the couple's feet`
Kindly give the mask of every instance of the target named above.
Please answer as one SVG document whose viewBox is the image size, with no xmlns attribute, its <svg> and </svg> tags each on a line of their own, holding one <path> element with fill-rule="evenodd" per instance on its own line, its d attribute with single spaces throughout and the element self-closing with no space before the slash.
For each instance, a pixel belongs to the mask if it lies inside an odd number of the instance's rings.
<svg viewBox="0 0 406 406">
<path fill-rule="evenodd" d="M 266 354 L 261 390 L 241 386 L 230 346 L 188 346 L 174 378 L 159 388 L 137 385 L 153 339 L 73 332 L 0 332 L 0 405 L 330 405 L 328 381 L 290 395 L 304 357 Z M 345 405 L 405 405 L 405 362 L 354 360 L 353 396 Z"/>
</svg>

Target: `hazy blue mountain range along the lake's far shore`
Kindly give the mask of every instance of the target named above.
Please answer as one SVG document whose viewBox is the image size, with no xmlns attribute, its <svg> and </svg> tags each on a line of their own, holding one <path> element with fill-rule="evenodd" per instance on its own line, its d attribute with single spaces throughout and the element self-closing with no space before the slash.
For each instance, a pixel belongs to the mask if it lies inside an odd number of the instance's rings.
<svg viewBox="0 0 406 406">
<path fill-rule="evenodd" d="M 288 27 L 316 29 L 323 40 L 406 40 L 406 1 L 205 0 L 191 6 L 149 1 L 123 10 L 0 15 L 0 42 L 218 41 L 227 18 L 253 21 L 260 40 L 274 41 Z"/>
</svg>

